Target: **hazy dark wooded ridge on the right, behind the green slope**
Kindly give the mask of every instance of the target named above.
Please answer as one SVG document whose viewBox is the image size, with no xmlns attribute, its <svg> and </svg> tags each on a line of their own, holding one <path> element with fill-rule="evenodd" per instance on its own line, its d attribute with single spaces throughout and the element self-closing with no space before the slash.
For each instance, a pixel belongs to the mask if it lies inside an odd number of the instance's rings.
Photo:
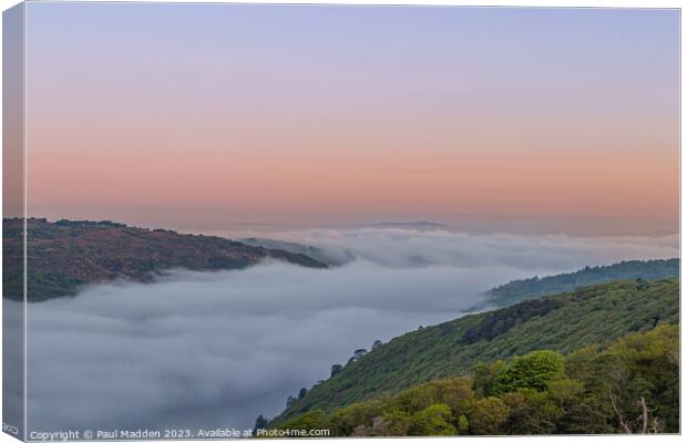
<svg viewBox="0 0 687 443">
<path fill-rule="evenodd" d="M 680 261 L 678 258 L 667 260 L 628 260 L 609 266 L 585 267 L 575 272 L 558 274 L 548 277 L 533 277 L 514 280 L 493 288 L 484 295 L 486 305 L 504 307 L 522 300 L 568 292 L 588 285 L 597 285 L 614 280 L 662 280 L 679 277 Z"/>
</svg>

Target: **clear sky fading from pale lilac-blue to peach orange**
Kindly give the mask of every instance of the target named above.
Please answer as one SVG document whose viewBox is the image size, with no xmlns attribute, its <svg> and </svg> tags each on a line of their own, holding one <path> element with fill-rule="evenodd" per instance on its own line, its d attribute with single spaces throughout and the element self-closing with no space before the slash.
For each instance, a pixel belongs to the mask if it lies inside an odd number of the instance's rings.
<svg viewBox="0 0 687 443">
<path fill-rule="evenodd" d="M 29 3 L 29 212 L 675 233 L 677 10 Z"/>
</svg>

